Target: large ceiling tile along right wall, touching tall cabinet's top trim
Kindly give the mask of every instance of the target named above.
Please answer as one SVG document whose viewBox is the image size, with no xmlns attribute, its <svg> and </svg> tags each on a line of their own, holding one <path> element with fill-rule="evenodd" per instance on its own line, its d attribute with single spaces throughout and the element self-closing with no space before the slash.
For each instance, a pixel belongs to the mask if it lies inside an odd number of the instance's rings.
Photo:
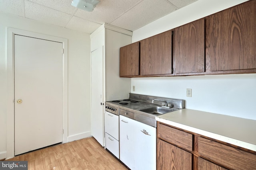
<svg viewBox="0 0 256 170">
<path fill-rule="evenodd" d="M 134 31 L 176 9 L 166 0 L 144 0 L 110 24 Z"/>
</svg>

